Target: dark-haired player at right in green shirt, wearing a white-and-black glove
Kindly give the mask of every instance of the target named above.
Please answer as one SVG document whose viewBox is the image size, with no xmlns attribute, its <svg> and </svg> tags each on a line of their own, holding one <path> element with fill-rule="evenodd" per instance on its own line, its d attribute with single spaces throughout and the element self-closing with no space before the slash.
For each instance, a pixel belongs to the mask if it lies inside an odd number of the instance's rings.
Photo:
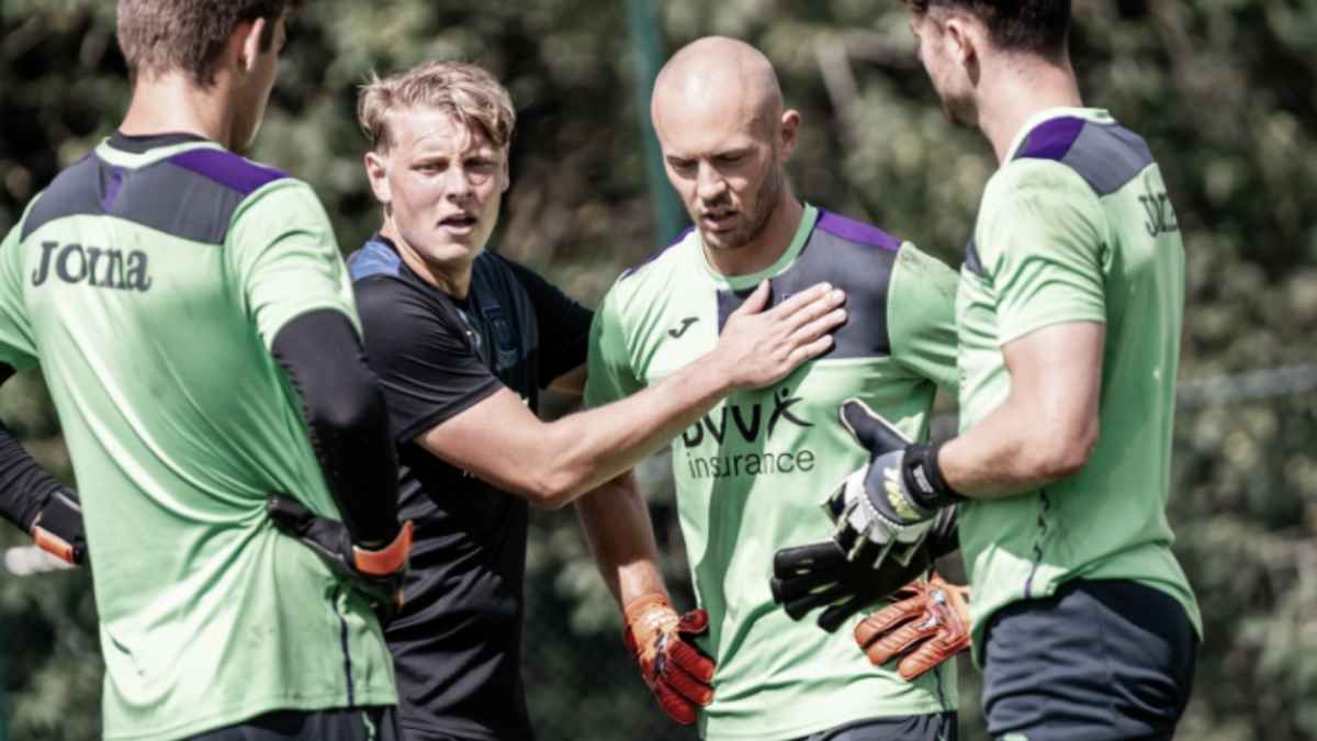
<svg viewBox="0 0 1317 741">
<path fill-rule="evenodd" d="M 1069 3 L 914 0 L 919 58 L 1001 167 L 956 298 L 960 435 L 871 429 L 847 538 L 960 506 L 988 730 L 1169 738 L 1201 634 L 1166 519 L 1184 249 L 1147 144 L 1085 108 Z"/>
</svg>

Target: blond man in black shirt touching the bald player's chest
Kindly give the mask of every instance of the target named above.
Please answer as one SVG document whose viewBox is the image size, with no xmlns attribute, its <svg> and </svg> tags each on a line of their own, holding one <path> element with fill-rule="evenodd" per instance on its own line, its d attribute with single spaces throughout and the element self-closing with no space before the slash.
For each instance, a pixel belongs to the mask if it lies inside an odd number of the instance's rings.
<svg viewBox="0 0 1317 741">
<path fill-rule="evenodd" d="M 614 588 L 661 593 L 627 472 L 727 393 L 827 349 L 843 297 L 802 285 L 761 311 L 765 286 L 699 363 L 649 393 L 541 422 L 541 389 L 581 393 L 591 312 L 486 249 L 510 182 L 507 91 L 478 66 L 431 62 L 371 80 L 358 113 L 385 223 L 348 262 L 389 397 L 402 509 L 416 522 L 407 605 L 387 626 L 403 733 L 531 738 L 520 679 L 528 505 L 556 509 L 598 489 L 582 516 L 608 529 L 599 558 Z M 677 622 L 670 607 L 664 614 Z"/>
</svg>

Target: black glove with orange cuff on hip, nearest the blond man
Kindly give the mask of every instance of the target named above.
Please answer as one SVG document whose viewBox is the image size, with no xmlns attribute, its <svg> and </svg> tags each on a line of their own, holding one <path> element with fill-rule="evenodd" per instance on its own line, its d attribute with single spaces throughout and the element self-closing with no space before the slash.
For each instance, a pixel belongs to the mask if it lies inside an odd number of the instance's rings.
<svg viewBox="0 0 1317 741">
<path fill-rule="evenodd" d="M 283 494 L 270 494 L 265 509 L 279 530 L 309 546 L 335 574 L 363 593 L 382 622 L 402 609 L 403 580 L 411 555 L 411 521 L 403 522 L 398 535 L 385 547 L 365 548 L 352 542 L 342 522 L 320 517 Z"/>
</svg>

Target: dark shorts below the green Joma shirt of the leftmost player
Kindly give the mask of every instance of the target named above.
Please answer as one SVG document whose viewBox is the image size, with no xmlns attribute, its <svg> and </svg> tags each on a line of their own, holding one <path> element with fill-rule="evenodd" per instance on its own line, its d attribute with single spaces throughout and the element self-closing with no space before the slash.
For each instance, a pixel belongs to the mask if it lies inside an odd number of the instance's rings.
<svg viewBox="0 0 1317 741">
<path fill-rule="evenodd" d="M 191 741 L 399 741 L 392 705 L 335 711 L 274 711 L 208 730 Z"/>
</svg>

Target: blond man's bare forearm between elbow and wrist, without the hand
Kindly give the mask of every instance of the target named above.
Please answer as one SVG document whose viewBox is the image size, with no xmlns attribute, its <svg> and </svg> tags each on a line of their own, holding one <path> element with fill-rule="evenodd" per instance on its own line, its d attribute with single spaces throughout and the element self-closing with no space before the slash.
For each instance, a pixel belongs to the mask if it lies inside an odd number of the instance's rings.
<svg viewBox="0 0 1317 741">
<path fill-rule="evenodd" d="M 710 356 L 614 403 L 545 426 L 541 469 L 566 504 L 649 458 L 732 389 Z"/>
</svg>

